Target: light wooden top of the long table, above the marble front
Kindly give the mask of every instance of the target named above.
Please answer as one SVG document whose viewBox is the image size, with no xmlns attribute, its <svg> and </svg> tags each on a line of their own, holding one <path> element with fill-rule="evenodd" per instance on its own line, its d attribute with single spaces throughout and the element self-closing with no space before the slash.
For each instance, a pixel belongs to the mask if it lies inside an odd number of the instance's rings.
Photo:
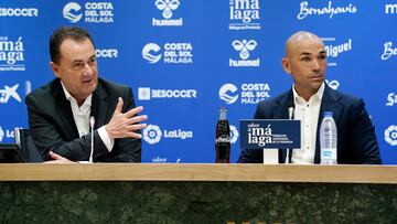
<svg viewBox="0 0 397 224">
<path fill-rule="evenodd" d="M 0 181 L 242 181 L 397 183 L 397 166 L 2 163 Z"/>
</svg>

